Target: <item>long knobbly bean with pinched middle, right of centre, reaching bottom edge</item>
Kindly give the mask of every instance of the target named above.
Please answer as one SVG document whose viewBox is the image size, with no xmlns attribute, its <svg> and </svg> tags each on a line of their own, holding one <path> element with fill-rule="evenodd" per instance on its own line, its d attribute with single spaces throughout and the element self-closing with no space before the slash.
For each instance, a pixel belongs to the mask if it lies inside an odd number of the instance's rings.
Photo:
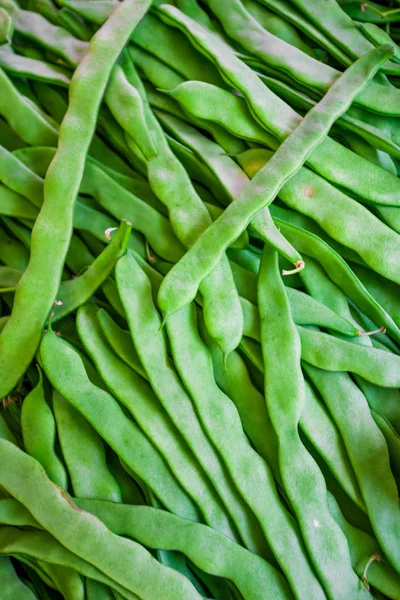
<svg viewBox="0 0 400 600">
<path fill-rule="evenodd" d="M 278 457 L 284 488 L 327 595 L 348 598 L 351 590 L 351 595 L 357 598 L 362 592 L 362 584 L 352 570 L 343 533 L 329 513 L 325 481 L 297 433 L 305 404 L 305 384 L 300 367 L 300 338 L 290 314 L 276 253 L 267 248 L 264 248 L 261 260 L 258 303 L 264 361 L 264 393 L 267 409 L 279 439 Z M 275 351 L 272 351 L 274 344 Z M 279 353 L 281 361 L 271 360 L 271 352 L 272 355 Z M 283 373 L 285 377 L 282 377 Z M 284 419 L 281 398 L 291 399 L 291 402 L 286 403 Z M 299 461 L 297 466 L 293 464 L 294 460 Z M 310 506 L 313 506 L 312 510 Z M 335 547 L 334 559 L 332 554 L 327 552 L 328 545 L 330 548 Z M 336 579 L 338 561 L 342 564 L 340 586 Z"/>
</svg>

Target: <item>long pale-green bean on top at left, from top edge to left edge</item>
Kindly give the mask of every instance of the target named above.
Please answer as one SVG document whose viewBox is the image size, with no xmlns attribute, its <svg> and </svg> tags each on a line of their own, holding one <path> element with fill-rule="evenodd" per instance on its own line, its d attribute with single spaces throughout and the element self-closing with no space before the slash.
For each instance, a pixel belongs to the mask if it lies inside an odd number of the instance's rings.
<svg viewBox="0 0 400 600">
<path fill-rule="evenodd" d="M 2 382 L 2 396 L 17 383 L 40 342 L 41 330 L 61 279 L 72 231 L 75 196 L 108 75 L 125 40 L 147 8 L 145 0 L 142 3 L 126 0 L 121 4 L 110 21 L 93 37 L 90 47 L 96 51 L 85 55 L 72 78 L 70 90 L 73 100 L 60 127 L 57 154 L 46 175 L 44 203 L 35 224 L 31 258 L 18 286 L 12 316 L 0 335 L 1 364 L 7 372 L 7 378 Z M 125 15 L 129 16 L 129 20 L 125 19 Z M 88 77 L 92 63 L 97 63 L 102 55 L 107 57 L 103 70 Z M 68 178 L 64 176 L 66 165 L 70 174 Z M 58 224 L 57 227 L 55 224 Z M 57 246 L 58 252 L 54 252 L 53 246 Z M 45 270 L 43 262 L 47 265 Z M 32 304 L 35 305 L 33 311 Z M 26 326 L 21 327 L 21 323 Z M 22 347 L 23 353 L 20 351 Z"/>
</svg>

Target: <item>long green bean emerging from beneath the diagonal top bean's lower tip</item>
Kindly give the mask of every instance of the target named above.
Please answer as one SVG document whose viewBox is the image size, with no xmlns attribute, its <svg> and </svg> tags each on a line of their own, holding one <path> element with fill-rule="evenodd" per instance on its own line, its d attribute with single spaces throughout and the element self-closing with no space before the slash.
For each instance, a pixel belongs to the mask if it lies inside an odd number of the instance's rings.
<svg viewBox="0 0 400 600">
<path fill-rule="evenodd" d="M 197 332 L 194 306 L 175 314 L 167 323 L 167 330 L 175 364 L 203 427 L 223 458 L 236 487 L 256 515 L 293 591 L 301 596 L 302 587 L 312 585 L 313 595 L 321 594 L 304 555 L 297 527 L 280 504 L 269 468 L 248 446 L 233 404 L 215 383 L 211 356 Z M 192 357 L 196 357 L 196 365 Z M 271 511 L 274 513 L 273 520 L 265 513 L 266 499 L 269 514 Z M 279 528 L 279 536 L 275 527 Z M 301 574 L 298 569 L 302 570 Z"/>
</svg>

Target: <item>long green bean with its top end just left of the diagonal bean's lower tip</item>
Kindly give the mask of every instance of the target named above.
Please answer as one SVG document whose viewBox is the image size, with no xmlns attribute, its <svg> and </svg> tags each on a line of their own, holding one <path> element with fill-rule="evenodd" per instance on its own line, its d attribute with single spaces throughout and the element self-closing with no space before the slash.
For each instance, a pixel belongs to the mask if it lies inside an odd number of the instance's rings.
<svg viewBox="0 0 400 600">
<path fill-rule="evenodd" d="M 246 546 L 258 553 L 265 552 L 265 540 L 257 522 L 226 473 L 189 395 L 172 368 L 165 332 L 160 331 L 161 318 L 153 304 L 150 281 L 131 255 L 127 255 L 126 261 L 118 261 L 116 279 L 132 339 L 151 387 L 212 482 Z M 127 285 L 128 281 L 134 285 Z M 150 368 L 154 362 L 158 364 L 157 371 Z"/>
</svg>

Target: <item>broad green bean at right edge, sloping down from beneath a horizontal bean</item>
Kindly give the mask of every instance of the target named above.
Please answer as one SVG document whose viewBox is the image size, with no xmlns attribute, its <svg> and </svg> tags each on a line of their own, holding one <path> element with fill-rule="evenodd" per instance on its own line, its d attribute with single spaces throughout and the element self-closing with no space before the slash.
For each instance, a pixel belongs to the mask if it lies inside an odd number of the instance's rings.
<svg viewBox="0 0 400 600">
<path fill-rule="evenodd" d="M 329 373 L 306 363 L 304 368 L 342 435 L 374 533 L 398 571 L 399 498 L 385 439 L 371 416 L 365 396 L 347 373 Z"/>
</svg>

